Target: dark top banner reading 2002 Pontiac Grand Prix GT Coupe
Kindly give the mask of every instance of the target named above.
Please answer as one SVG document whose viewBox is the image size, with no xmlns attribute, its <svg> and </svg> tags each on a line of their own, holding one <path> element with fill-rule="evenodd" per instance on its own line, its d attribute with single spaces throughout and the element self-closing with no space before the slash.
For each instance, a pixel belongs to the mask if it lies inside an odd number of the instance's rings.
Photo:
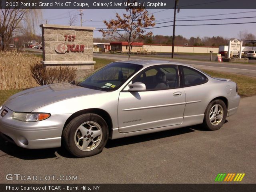
<svg viewBox="0 0 256 192">
<path fill-rule="evenodd" d="M 0 0 L 0 8 L 28 9 L 252 9 L 255 0 Z"/>
</svg>

